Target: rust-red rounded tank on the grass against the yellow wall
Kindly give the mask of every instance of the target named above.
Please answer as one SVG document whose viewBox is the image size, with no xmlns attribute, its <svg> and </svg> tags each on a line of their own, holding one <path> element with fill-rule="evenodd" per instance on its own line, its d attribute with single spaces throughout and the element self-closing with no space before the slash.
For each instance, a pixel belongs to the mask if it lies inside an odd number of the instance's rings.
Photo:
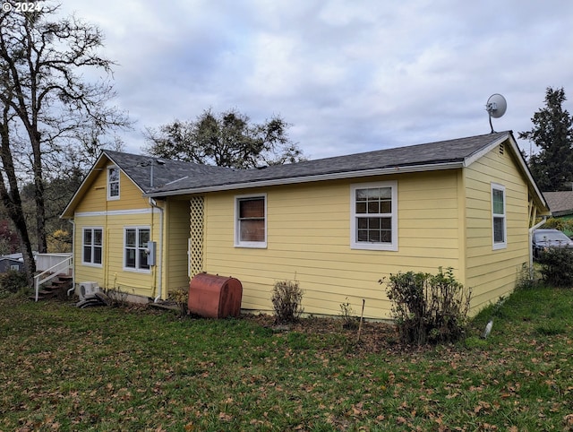
<svg viewBox="0 0 573 432">
<path fill-rule="evenodd" d="M 206 318 L 227 318 L 241 312 L 243 285 L 238 279 L 199 273 L 189 282 L 190 314 Z"/>
</svg>

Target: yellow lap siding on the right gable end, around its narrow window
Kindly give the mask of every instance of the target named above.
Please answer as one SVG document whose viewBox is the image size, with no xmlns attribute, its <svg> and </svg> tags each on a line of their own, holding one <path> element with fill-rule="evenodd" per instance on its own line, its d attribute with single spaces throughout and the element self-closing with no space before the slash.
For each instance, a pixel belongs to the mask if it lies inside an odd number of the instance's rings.
<svg viewBox="0 0 573 432">
<path fill-rule="evenodd" d="M 515 288 L 528 262 L 527 187 L 509 151 L 496 147 L 466 168 L 466 285 L 475 311 Z M 492 249 L 491 184 L 506 188 L 508 247 Z"/>
</svg>

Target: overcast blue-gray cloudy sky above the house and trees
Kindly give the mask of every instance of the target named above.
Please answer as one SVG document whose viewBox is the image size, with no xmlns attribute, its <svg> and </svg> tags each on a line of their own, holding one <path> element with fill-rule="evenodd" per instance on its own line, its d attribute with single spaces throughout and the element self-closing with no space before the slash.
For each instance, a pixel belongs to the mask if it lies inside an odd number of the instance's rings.
<svg viewBox="0 0 573 432">
<path fill-rule="evenodd" d="M 570 0 L 63 0 L 98 24 L 116 104 L 142 131 L 207 108 L 291 124 L 307 157 L 532 128 L 547 87 L 573 112 Z M 529 143 L 518 140 L 529 150 Z"/>
</svg>

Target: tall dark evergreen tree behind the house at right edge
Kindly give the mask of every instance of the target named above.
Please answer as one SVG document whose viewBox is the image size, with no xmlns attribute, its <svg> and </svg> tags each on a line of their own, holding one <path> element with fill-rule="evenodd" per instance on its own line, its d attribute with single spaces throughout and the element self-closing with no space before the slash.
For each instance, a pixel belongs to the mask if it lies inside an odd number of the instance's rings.
<svg viewBox="0 0 573 432">
<path fill-rule="evenodd" d="M 542 191 L 571 190 L 573 180 L 573 117 L 563 109 L 563 88 L 545 92 L 545 107 L 532 117 L 533 129 L 519 138 L 535 143 L 540 151 L 529 159 L 529 168 Z"/>
</svg>

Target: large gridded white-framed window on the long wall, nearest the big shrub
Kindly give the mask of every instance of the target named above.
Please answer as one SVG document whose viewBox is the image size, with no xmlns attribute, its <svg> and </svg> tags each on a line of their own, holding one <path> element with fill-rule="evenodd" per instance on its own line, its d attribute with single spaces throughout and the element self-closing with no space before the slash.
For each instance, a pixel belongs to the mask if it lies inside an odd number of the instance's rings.
<svg viewBox="0 0 573 432">
<path fill-rule="evenodd" d="M 381 182 L 350 187 L 353 249 L 398 250 L 398 183 Z"/>
</svg>

